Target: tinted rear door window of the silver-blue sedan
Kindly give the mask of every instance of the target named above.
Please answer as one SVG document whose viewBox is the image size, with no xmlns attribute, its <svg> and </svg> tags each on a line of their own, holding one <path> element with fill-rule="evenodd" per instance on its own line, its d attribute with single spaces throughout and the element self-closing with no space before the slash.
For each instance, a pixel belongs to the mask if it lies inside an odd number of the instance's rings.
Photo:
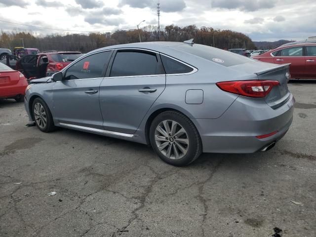
<svg viewBox="0 0 316 237">
<path fill-rule="evenodd" d="M 110 77 L 142 76 L 157 74 L 158 60 L 155 53 L 118 51 Z"/>
</svg>

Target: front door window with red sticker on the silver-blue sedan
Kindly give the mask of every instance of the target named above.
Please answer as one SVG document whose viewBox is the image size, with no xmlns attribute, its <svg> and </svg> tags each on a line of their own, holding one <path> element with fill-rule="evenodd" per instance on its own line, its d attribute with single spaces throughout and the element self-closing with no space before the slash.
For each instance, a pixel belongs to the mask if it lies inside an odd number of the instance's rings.
<svg viewBox="0 0 316 237">
<path fill-rule="evenodd" d="M 81 59 L 67 69 L 65 79 L 73 80 L 104 77 L 105 67 L 108 64 L 111 53 L 111 51 L 106 51 L 92 54 Z"/>
</svg>

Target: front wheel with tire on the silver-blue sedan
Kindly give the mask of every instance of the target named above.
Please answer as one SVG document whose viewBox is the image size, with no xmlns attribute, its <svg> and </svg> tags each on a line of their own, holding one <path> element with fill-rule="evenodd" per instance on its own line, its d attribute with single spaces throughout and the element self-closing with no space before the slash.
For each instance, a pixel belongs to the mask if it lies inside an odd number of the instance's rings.
<svg viewBox="0 0 316 237">
<path fill-rule="evenodd" d="M 55 130 L 56 127 L 54 125 L 50 110 L 47 104 L 41 98 L 38 97 L 33 101 L 32 113 L 37 127 L 42 132 L 51 132 Z"/>
</svg>

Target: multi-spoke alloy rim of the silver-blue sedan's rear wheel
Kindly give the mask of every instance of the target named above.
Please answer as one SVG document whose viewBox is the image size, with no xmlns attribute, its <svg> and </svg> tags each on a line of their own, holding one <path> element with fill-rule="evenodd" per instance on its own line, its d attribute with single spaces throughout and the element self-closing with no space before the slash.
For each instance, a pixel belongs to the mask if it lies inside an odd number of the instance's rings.
<svg viewBox="0 0 316 237">
<path fill-rule="evenodd" d="M 155 142 L 162 155 L 170 159 L 183 158 L 190 145 L 186 130 L 173 120 L 164 120 L 158 124 Z"/>
</svg>

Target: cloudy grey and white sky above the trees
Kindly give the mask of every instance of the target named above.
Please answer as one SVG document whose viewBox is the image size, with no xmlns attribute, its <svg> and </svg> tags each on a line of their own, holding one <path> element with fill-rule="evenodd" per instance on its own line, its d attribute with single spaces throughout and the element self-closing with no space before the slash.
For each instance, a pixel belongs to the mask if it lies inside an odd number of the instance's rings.
<svg viewBox="0 0 316 237">
<path fill-rule="evenodd" d="M 0 20 L 72 31 L 157 25 L 158 0 L 0 0 Z M 161 26 L 195 24 L 242 32 L 255 41 L 316 36 L 316 0 L 160 0 Z M 1 22 L 2 30 L 67 34 Z"/>
</svg>

